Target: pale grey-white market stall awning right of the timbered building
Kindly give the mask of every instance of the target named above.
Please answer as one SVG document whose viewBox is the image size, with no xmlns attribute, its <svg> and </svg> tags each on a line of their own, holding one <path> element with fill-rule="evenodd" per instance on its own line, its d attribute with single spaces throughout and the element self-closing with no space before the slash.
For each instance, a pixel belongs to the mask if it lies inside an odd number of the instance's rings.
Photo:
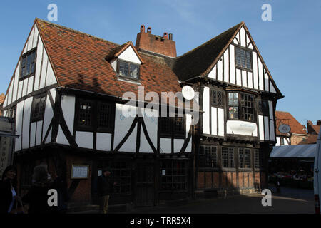
<svg viewBox="0 0 321 228">
<path fill-rule="evenodd" d="M 270 157 L 315 157 L 316 144 L 273 147 Z"/>
</svg>

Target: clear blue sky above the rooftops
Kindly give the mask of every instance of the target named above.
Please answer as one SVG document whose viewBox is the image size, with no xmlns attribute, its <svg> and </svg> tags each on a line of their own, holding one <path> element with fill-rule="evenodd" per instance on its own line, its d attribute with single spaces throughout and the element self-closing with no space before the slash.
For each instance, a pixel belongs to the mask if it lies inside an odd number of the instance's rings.
<svg viewBox="0 0 321 228">
<path fill-rule="evenodd" d="M 149 1 L 1 1 L 0 92 L 6 93 L 35 17 L 47 19 L 58 6 L 55 23 L 93 36 L 125 43 L 136 41 L 141 24 L 152 33 L 173 33 L 178 56 L 245 21 L 267 68 L 285 98 L 277 110 L 300 123 L 321 119 L 321 1 L 149 0 Z M 263 21 L 263 4 L 272 21 Z"/>
</svg>

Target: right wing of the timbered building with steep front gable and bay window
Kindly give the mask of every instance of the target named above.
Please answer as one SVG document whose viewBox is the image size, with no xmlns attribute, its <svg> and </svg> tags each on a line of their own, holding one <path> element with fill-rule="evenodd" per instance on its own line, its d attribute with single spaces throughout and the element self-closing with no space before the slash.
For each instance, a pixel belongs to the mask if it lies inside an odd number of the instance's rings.
<svg viewBox="0 0 321 228">
<path fill-rule="evenodd" d="M 275 107 L 283 96 L 245 24 L 168 63 L 183 85 L 200 91 L 196 195 L 225 197 L 265 187 Z"/>
</svg>

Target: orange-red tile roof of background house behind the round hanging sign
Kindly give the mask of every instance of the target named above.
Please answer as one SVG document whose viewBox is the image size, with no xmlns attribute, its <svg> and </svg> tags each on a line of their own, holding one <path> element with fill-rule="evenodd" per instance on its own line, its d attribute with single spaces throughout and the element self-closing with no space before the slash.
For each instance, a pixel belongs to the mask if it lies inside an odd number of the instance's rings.
<svg viewBox="0 0 321 228">
<path fill-rule="evenodd" d="M 295 134 L 304 134 L 307 135 L 307 132 L 303 130 L 305 128 L 301 125 L 290 113 L 275 111 L 275 119 L 276 119 L 276 133 L 277 135 L 287 135 L 284 133 L 280 133 L 279 126 L 282 124 L 287 124 L 290 126 L 290 133 Z"/>
</svg>

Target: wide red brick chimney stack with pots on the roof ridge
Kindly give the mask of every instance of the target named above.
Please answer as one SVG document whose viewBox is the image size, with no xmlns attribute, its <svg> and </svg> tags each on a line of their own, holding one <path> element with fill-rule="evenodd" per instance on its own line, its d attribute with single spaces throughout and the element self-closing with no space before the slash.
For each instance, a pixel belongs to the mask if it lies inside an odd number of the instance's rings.
<svg viewBox="0 0 321 228">
<path fill-rule="evenodd" d="M 176 57 L 176 44 L 173 41 L 173 34 L 164 33 L 163 36 L 156 36 L 151 33 L 151 27 L 141 26 L 140 33 L 137 34 L 136 48 L 138 50 L 151 51 L 164 56 Z"/>
</svg>

